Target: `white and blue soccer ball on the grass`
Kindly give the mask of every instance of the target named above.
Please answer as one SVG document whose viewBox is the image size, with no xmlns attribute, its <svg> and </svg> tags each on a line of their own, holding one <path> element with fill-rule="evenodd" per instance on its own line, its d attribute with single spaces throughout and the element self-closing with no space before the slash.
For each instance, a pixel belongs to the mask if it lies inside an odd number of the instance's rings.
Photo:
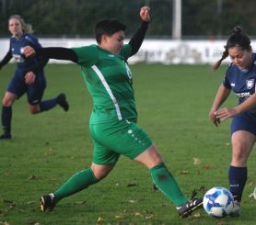
<svg viewBox="0 0 256 225">
<path fill-rule="evenodd" d="M 215 186 L 205 193 L 203 205 L 211 217 L 223 218 L 233 211 L 234 198 L 225 187 Z"/>
</svg>

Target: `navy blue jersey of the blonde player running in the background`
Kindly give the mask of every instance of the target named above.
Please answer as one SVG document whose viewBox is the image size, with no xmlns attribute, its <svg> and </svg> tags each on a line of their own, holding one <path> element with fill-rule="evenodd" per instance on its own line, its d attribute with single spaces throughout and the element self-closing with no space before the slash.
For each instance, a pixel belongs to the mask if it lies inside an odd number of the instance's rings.
<svg viewBox="0 0 256 225">
<path fill-rule="evenodd" d="M 18 40 L 15 37 L 10 38 L 10 51 L 17 62 L 18 69 L 26 70 L 28 68 L 35 67 L 40 62 L 38 56 L 26 59 L 23 54 L 23 47 L 28 45 L 34 49 L 41 48 L 41 44 L 38 39 L 34 35 L 28 33 L 23 33 L 23 36 Z"/>
</svg>

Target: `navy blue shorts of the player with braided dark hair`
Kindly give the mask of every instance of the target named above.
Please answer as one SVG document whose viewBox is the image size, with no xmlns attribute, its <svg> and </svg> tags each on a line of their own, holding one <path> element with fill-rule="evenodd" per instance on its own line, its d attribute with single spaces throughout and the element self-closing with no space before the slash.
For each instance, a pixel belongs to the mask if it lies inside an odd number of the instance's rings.
<svg viewBox="0 0 256 225">
<path fill-rule="evenodd" d="M 256 136 L 256 117 L 243 113 L 233 118 L 231 123 L 231 134 L 238 130 L 246 130 Z"/>
</svg>

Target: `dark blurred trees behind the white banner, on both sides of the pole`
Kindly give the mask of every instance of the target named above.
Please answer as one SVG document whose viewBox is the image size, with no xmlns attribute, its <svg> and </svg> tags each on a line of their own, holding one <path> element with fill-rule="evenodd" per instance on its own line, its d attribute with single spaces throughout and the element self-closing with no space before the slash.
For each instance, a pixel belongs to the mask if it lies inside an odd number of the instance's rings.
<svg viewBox="0 0 256 225">
<path fill-rule="evenodd" d="M 8 17 L 18 14 L 40 37 L 92 37 L 95 23 L 105 17 L 121 19 L 131 36 L 145 4 L 152 17 L 147 37 L 171 38 L 172 0 L 0 0 L 0 35 L 9 36 Z M 255 0 L 182 0 L 182 39 L 224 38 L 237 25 L 255 35 L 255 6 Z"/>
</svg>

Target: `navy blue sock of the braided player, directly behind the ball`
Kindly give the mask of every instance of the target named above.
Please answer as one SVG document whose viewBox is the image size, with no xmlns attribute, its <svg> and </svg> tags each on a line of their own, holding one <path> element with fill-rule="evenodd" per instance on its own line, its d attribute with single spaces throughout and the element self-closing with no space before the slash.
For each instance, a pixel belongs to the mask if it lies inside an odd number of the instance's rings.
<svg viewBox="0 0 256 225">
<path fill-rule="evenodd" d="M 229 166 L 229 190 L 234 199 L 241 201 L 243 189 L 247 180 L 247 167 Z"/>
</svg>

